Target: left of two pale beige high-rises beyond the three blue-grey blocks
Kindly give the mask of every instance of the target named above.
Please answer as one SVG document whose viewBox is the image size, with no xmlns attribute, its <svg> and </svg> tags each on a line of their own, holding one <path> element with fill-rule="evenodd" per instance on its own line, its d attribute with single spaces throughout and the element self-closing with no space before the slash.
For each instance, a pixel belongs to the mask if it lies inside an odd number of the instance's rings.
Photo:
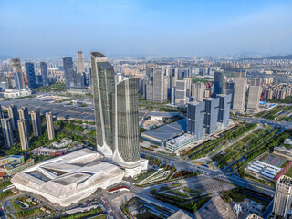
<svg viewBox="0 0 292 219">
<path fill-rule="evenodd" d="M 233 110 L 243 112 L 245 110 L 246 73 L 237 72 L 235 77 L 235 92 Z"/>
</svg>

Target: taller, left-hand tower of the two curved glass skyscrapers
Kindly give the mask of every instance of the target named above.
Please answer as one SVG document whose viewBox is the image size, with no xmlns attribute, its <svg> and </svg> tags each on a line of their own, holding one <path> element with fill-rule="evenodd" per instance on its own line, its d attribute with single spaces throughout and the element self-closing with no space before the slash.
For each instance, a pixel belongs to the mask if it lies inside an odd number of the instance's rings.
<svg viewBox="0 0 292 219">
<path fill-rule="evenodd" d="M 108 57 L 91 52 L 93 99 L 98 151 L 112 156 L 115 148 L 115 73 Z"/>
</svg>

